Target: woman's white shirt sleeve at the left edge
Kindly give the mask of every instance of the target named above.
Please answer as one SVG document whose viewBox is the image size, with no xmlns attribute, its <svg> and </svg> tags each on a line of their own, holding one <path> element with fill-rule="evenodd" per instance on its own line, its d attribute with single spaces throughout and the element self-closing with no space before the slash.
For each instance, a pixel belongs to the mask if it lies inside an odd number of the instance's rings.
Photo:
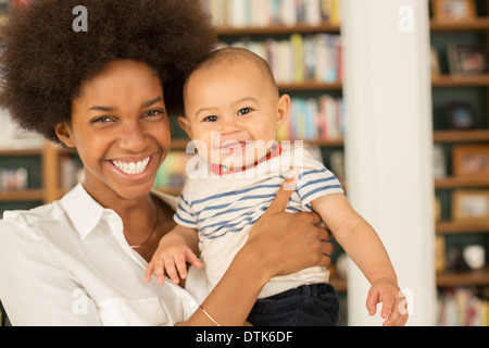
<svg viewBox="0 0 489 348">
<path fill-rule="evenodd" d="M 73 274 L 46 243 L 12 219 L 0 221 L 0 299 L 12 325 L 101 325 Z"/>
</svg>

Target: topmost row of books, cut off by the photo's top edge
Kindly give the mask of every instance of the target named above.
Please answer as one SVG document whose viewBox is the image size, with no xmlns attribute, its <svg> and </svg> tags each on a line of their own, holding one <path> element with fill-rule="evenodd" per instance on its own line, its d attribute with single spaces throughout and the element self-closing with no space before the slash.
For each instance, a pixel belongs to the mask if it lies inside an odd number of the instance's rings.
<svg viewBox="0 0 489 348">
<path fill-rule="evenodd" d="M 218 27 L 339 26 L 340 0 L 202 0 Z"/>
</svg>

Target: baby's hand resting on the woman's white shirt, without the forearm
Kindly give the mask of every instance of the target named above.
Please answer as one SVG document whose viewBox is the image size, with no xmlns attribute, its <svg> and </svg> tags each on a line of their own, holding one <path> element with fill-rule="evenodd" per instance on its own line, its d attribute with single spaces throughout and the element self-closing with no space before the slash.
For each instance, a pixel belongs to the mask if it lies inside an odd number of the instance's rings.
<svg viewBox="0 0 489 348">
<path fill-rule="evenodd" d="M 161 285 L 165 282 L 164 271 L 172 279 L 174 284 L 180 282 L 178 273 L 181 279 L 187 278 L 187 264 L 193 264 L 196 268 L 201 269 L 203 264 L 193 251 L 185 244 L 161 244 L 153 254 L 148 269 L 146 270 L 146 282 L 151 281 L 151 275 L 158 278 L 158 283 Z M 178 271 L 178 273 L 177 273 Z"/>
</svg>

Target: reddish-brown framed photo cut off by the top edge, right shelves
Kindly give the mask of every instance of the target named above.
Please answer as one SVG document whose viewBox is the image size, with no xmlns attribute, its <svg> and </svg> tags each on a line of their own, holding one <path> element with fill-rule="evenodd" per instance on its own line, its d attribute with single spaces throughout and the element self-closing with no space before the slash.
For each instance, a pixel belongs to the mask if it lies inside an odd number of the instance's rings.
<svg viewBox="0 0 489 348">
<path fill-rule="evenodd" d="M 474 0 L 431 0 L 431 9 L 438 22 L 467 21 L 477 16 Z"/>
</svg>

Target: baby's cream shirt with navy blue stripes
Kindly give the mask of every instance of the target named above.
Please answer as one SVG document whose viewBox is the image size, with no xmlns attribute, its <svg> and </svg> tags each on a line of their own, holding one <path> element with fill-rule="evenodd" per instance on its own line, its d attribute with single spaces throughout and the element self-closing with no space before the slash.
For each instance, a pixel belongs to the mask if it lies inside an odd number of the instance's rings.
<svg viewBox="0 0 489 348">
<path fill-rule="evenodd" d="M 215 173 L 198 156 L 195 158 L 174 219 L 183 226 L 198 229 L 209 290 L 244 245 L 249 231 L 275 198 L 291 165 L 299 171 L 299 183 L 287 212 L 312 211 L 314 199 L 343 192 L 336 176 L 302 148 L 283 150 L 246 171 L 228 174 Z M 265 285 L 260 297 L 328 278 L 329 273 L 323 268 L 277 276 Z"/>
</svg>

